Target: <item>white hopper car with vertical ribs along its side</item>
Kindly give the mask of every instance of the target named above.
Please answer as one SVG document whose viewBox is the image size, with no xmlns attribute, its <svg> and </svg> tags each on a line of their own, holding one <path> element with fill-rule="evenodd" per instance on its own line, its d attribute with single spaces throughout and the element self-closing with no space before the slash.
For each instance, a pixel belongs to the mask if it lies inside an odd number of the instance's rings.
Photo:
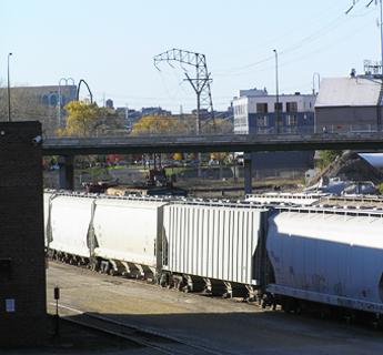
<svg viewBox="0 0 383 355">
<path fill-rule="evenodd" d="M 259 240 L 269 213 L 265 206 L 222 201 L 165 205 L 161 282 L 226 296 L 255 296 Z"/>
</svg>

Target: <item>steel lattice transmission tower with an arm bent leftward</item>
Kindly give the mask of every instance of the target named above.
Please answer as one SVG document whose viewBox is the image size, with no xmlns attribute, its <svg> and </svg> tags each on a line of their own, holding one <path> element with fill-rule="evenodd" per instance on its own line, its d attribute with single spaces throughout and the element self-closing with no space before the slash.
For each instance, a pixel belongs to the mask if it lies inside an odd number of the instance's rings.
<svg viewBox="0 0 383 355">
<path fill-rule="evenodd" d="M 214 119 L 214 110 L 213 110 L 213 102 L 211 99 L 210 92 L 210 82 L 212 81 L 208 73 L 208 65 L 206 59 L 204 54 L 193 53 L 188 51 L 182 51 L 180 49 L 172 49 L 168 52 L 163 52 L 154 57 L 154 67 L 161 71 L 158 67 L 159 62 L 168 61 L 168 63 L 173 67 L 170 62 L 171 61 L 179 61 L 183 64 L 189 64 L 195 67 L 196 75 L 194 79 L 191 79 L 188 73 L 185 75 L 191 85 L 193 87 L 195 94 L 196 94 L 196 134 L 201 134 L 201 110 L 206 109 L 211 114 L 211 122 L 215 129 L 215 119 Z M 181 68 L 185 70 L 182 65 Z"/>
</svg>

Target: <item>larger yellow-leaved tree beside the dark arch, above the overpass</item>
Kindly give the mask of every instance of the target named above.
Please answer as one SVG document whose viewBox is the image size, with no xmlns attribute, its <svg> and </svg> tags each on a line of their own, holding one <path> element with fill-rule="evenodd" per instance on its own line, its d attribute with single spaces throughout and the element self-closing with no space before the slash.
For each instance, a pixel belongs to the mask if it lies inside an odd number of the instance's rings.
<svg viewBox="0 0 383 355">
<path fill-rule="evenodd" d="M 68 112 L 65 128 L 59 129 L 60 136 L 104 136 L 115 135 L 122 129 L 121 118 L 109 109 L 99 108 L 89 100 L 71 101 L 64 109 Z"/>
</svg>

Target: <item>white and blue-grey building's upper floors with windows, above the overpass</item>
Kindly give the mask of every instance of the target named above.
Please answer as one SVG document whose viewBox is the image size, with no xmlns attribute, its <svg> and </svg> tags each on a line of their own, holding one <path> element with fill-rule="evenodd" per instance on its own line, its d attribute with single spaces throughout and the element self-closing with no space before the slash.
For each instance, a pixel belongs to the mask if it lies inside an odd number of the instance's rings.
<svg viewBox="0 0 383 355">
<path fill-rule="evenodd" d="M 276 100 L 276 95 L 270 95 L 266 89 L 240 90 L 233 100 L 234 133 L 313 132 L 315 99 L 315 94 L 295 92 L 278 95 Z"/>
</svg>

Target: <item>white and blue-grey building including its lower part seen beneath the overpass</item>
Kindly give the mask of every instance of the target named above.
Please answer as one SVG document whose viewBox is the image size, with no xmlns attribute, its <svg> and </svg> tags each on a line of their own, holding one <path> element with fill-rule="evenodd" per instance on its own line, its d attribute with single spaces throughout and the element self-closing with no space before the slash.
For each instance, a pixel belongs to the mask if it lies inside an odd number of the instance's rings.
<svg viewBox="0 0 383 355">
<path fill-rule="evenodd" d="M 270 95 L 266 89 L 240 90 L 233 99 L 234 133 L 311 133 L 315 129 L 315 94 Z M 276 119 L 276 101 L 279 102 Z M 313 168 L 314 151 L 253 152 L 252 175 L 300 176 Z"/>
</svg>

